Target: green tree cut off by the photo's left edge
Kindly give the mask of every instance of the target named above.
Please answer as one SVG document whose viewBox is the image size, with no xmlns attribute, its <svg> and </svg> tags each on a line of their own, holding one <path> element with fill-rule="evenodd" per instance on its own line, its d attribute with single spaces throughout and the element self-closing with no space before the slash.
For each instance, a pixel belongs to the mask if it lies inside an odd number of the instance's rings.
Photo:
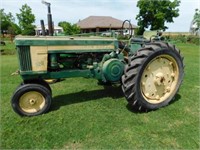
<svg viewBox="0 0 200 150">
<path fill-rule="evenodd" d="M 4 9 L 0 9 L 0 18 L 1 18 L 1 33 L 9 34 L 20 34 L 21 30 L 17 24 L 15 24 L 15 18 L 12 13 L 6 14 Z M 12 31 L 12 32 L 10 32 Z"/>
</svg>

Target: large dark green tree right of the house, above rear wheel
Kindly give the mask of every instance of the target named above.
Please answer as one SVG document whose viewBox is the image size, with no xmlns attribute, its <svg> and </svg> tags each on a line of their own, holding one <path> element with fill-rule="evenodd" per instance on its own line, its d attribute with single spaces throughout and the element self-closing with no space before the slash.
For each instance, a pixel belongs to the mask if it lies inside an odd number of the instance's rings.
<svg viewBox="0 0 200 150">
<path fill-rule="evenodd" d="M 139 34 L 143 34 L 146 28 L 150 30 L 166 30 L 166 22 L 174 22 L 173 18 L 179 16 L 180 0 L 139 0 L 139 14 L 136 16 L 139 26 Z"/>
</svg>

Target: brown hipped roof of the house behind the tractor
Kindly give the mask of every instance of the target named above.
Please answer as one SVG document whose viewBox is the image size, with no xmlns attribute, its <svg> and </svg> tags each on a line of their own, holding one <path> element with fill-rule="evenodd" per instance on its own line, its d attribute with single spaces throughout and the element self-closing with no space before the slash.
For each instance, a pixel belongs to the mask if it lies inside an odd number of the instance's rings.
<svg viewBox="0 0 200 150">
<path fill-rule="evenodd" d="M 110 17 L 110 16 L 89 16 L 77 23 L 81 29 L 88 28 L 121 28 L 123 21 Z M 128 23 L 125 24 L 125 28 L 128 28 Z M 132 28 L 137 26 L 132 24 Z"/>
</svg>

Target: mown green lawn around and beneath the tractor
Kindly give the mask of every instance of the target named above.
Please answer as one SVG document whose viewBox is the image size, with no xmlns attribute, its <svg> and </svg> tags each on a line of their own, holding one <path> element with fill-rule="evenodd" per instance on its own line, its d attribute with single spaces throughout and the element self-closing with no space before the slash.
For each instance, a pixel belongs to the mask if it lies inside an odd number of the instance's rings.
<svg viewBox="0 0 200 150">
<path fill-rule="evenodd" d="M 51 85 L 48 113 L 20 117 L 10 98 L 21 82 L 11 76 L 17 58 L 1 56 L 0 149 L 199 149 L 199 52 L 179 44 L 185 78 L 175 101 L 149 113 L 127 108 L 120 87 L 97 85 L 95 79 L 71 78 Z"/>
</svg>

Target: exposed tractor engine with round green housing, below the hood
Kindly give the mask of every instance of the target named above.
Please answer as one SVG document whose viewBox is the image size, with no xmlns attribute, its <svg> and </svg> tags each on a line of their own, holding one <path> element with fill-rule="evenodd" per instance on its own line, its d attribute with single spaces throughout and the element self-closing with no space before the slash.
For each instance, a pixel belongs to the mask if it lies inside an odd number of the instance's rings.
<svg viewBox="0 0 200 150">
<path fill-rule="evenodd" d="M 124 70 L 119 56 L 116 52 L 49 54 L 48 71 L 90 70 L 92 77 L 102 82 L 118 82 Z"/>
</svg>

